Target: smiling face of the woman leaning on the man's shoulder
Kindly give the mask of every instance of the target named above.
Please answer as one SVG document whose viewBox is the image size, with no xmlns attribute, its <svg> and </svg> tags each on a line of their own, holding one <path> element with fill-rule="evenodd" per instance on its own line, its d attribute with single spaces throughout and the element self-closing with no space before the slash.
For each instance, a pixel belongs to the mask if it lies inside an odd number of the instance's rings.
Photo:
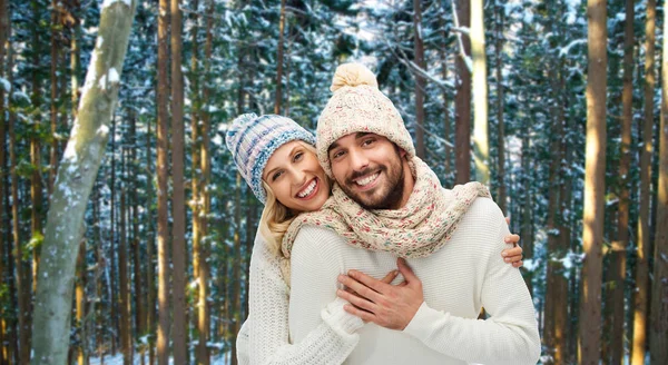
<svg viewBox="0 0 668 365">
<path fill-rule="evenodd" d="M 305 142 L 291 141 L 267 161 L 263 179 L 276 199 L 295 213 L 318 210 L 330 197 L 330 182 Z"/>
</svg>

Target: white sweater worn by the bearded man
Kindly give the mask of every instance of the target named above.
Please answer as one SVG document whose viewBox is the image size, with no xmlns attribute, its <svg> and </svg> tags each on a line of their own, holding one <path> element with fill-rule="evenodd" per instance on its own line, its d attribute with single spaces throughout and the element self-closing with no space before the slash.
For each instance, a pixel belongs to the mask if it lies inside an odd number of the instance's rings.
<svg viewBox="0 0 668 365">
<path fill-rule="evenodd" d="M 345 364 L 536 364 L 540 337 L 520 272 L 503 262 L 508 225 L 491 199 L 475 199 L 448 245 L 407 263 L 422 280 L 424 304 L 403 331 L 365 325 Z M 289 328 L 299 342 L 322 323 L 336 277 L 358 269 L 376 278 L 396 256 L 346 244 L 331 229 L 304 226 L 292 251 Z M 400 278 L 396 279 L 397 282 Z M 478 320 L 480 308 L 490 314 Z"/>
</svg>

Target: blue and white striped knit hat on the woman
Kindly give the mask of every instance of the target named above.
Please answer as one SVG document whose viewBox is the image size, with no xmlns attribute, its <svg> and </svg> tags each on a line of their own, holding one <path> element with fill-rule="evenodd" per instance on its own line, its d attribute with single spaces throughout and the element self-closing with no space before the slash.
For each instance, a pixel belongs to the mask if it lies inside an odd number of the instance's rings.
<svg viewBox="0 0 668 365">
<path fill-rule="evenodd" d="M 276 115 L 240 115 L 227 129 L 227 149 L 232 152 L 239 174 L 263 204 L 267 200 L 267 194 L 262 186 L 262 172 L 267 160 L 281 146 L 293 140 L 315 145 L 312 132 L 294 120 Z"/>
</svg>

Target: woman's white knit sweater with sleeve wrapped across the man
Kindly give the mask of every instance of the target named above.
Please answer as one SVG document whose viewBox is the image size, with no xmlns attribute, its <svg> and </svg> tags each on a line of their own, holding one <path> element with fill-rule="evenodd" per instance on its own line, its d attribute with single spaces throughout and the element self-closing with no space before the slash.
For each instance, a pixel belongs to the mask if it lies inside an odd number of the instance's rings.
<svg viewBox="0 0 668 365">
<path fill-rule="evenodd" d="M 317 308 L 318 326 L 298 342 L 289 341 L 289 288 L 283 279 L 278 258 L 259 234 L 250 257 L 249 279 L 249 315 L 236 343 L 239 364 L 336 365 L 342 364 L 357 344 L 360 336 L 355 332 L 363 322 L 346 313 L 343 306 L 347 302 L 336 296 Z"/>
</svg>

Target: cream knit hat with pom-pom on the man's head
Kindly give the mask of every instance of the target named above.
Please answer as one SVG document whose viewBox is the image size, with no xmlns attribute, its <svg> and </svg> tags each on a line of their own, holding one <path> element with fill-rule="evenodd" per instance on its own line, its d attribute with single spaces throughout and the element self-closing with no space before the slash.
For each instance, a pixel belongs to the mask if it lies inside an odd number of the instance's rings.
<svg viewBox="0 0 668 365">
<path fill-rule="evenodd" d="M 338 138 L 354 132 L 372 132 L 396 144 L 412 158 L 415 147 L 399 110 L 379 90 L 373 72 L 361 63 L 338 66 L 332 87 L 334 95 L 317 120 L 317 158 L 332 176 L 327 149 Z"/>
</svg>

